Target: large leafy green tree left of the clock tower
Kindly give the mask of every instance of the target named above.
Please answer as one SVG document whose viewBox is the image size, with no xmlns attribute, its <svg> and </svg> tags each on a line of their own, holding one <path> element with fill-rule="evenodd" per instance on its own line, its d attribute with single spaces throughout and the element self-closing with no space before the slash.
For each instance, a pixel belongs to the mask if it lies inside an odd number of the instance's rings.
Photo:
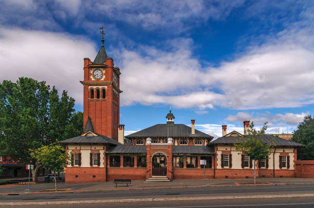
<svg viewBox="0 0 314 208">
<path fill-rule="evenodd" d="M 21 77 L 16 83 L 0 83 L 0 155 L 21 164 L 36 164 L 29 149 L 37 149 L 56 140 L 77 134 L 71 118 L 74 99 L 45 81 Z M 76 136 L 76 135 L 75 135 Z M 39 165 L 32 170 L 37 180 Z"/>
</svg>

